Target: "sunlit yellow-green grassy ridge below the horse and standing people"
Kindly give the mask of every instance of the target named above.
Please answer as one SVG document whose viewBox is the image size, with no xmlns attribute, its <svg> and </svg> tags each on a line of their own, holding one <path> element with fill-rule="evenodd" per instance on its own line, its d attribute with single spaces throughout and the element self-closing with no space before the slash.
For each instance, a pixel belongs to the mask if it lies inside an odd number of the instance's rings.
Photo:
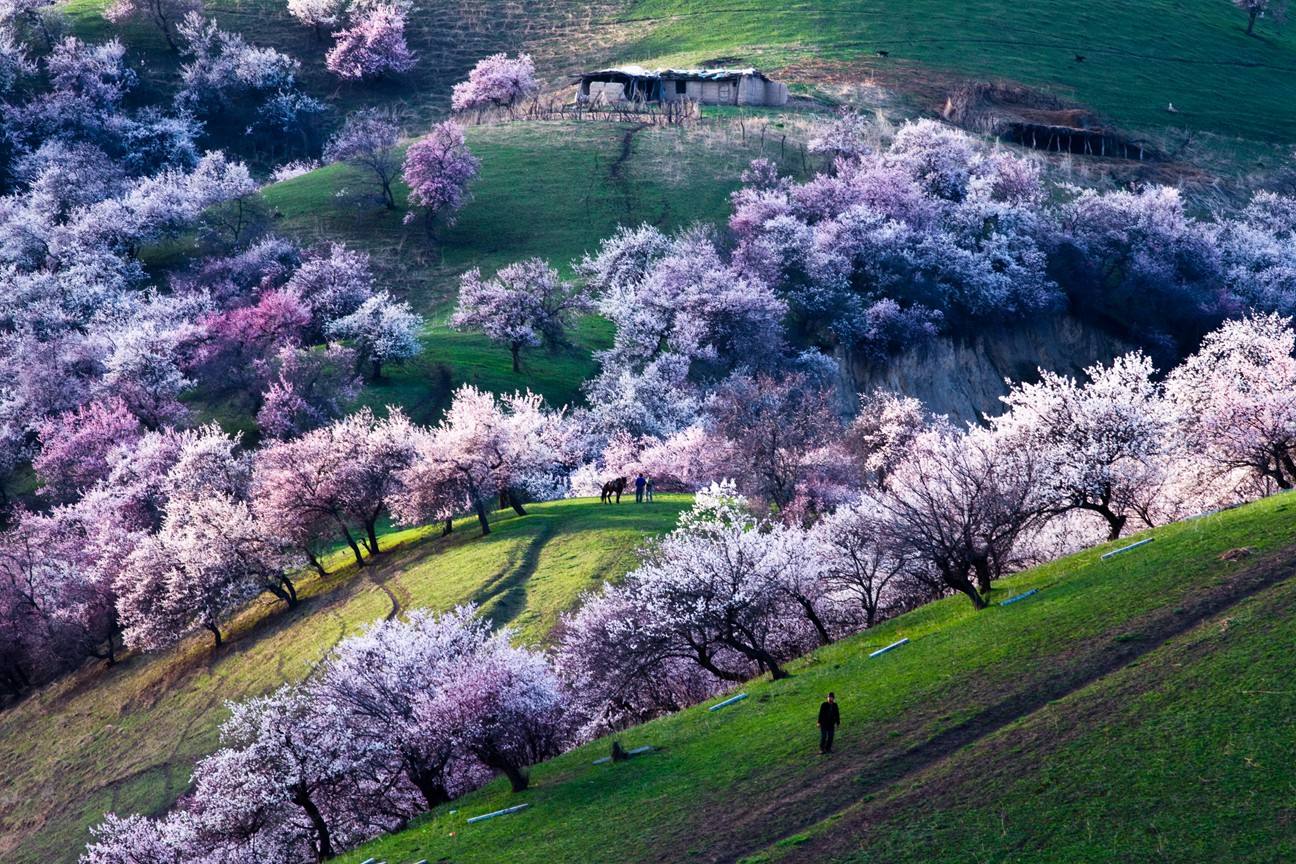
<svg viewBox="0 0 1296 864">
<path fill-rule="evenodd" d="M 0 714 L 0 860 L 74 861 L 104 811 L 158 812 L 216 746 L 226 699 L 298 680 L 347 633 L 402 609 L 476 602 L 496 624 L 543 642 L 581 592 L 625 573 L 644 538 L 669 530 L 686 496 L 651 506 L 594 500 L 498 514 L 490 536 L 469 522 L 450 539 L 389 534 L 375 567 L 305 579 L 288 613 L 268 600 L 229 627 L 211 655 L 202 639 L 157 657 L 95 665 Z"/>
</svg>

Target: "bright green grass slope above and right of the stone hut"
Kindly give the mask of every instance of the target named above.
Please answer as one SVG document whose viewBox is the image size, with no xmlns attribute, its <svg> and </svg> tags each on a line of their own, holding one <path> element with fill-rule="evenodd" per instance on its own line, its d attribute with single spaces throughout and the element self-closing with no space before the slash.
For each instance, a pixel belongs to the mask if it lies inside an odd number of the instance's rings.
<svg viewBox="0 0 1296 864">
<path fill-rule="evenodd" d="M 927 71 L 1007 78 L 1069 95 L 1134 130 L 1296 140 L 1296 34 L 1221 0 L 638 0 L 627 61 L 730 58 L 884 83 Z M 877 51 L 889 56 L 877 57 Z M 1083 62 L 1074 60 L 1085 57 Z M 850 69 L 835 69 L 855 63 Z M 1174 102 L 1177 114 L 1166 110 Z"/>
</svg>

